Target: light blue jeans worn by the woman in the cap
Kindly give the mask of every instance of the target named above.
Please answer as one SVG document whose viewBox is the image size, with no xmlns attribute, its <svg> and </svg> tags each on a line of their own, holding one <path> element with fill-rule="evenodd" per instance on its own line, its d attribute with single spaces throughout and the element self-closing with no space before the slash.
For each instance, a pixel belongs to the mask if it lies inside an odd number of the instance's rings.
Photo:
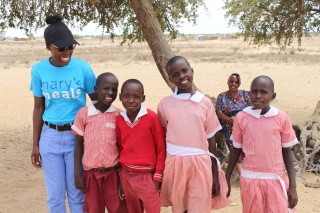
<svg viewBox="0 0 320 213">
<path fill-rule="evenodd" d="M 42 126 L 39 142 L 50 213 L 66 212 L 66 193 L 71 213 L 83 212 L 83 193 L 74 185 L 75 135 Z"/>
</svg>

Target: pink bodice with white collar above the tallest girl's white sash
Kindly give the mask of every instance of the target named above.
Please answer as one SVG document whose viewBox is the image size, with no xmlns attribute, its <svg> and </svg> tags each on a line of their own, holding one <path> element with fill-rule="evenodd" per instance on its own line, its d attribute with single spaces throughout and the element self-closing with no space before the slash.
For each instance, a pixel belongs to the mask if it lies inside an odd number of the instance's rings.
<svg viewBox="0 0 320 213">
<path fill-rule="evenodd" d="M 174 93 L 161 100 L 158 115 L 167 129 L 166 141 L 207 151 L 207 139 L 213 137 L 221 126 L 209 98 L 198 91 L 189 96 L 188 93 Z"/>
</svg>

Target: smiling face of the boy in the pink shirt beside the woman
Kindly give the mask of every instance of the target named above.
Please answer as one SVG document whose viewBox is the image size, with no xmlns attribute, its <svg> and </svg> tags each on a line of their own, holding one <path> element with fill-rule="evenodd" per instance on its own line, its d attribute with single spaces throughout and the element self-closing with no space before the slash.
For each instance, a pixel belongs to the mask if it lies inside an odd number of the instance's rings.
<svg viewBox="0 0 320 213">
<path fill-rule="evenodd" d="M 118 95 L 118 79 L 111 74 L 99 76 L 95 93 L 98 94 L 97 108 L 104 111 L 110 107 Z"/>
</svg>

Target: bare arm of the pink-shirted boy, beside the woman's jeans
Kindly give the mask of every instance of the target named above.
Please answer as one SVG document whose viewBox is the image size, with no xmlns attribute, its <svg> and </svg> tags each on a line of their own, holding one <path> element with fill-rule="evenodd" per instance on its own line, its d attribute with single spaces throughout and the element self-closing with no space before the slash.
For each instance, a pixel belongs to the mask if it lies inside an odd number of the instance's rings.
<svg viewBox="0 0 320 213">
<path fill-rule="evenodd" d="M 74 146 L 74 184 L 77 189 L 81 189 L 85 193 L 84 181 L 81 176 L 81 160 L 83 155 L 83 136 L 76 136 Z"/>
</svg>

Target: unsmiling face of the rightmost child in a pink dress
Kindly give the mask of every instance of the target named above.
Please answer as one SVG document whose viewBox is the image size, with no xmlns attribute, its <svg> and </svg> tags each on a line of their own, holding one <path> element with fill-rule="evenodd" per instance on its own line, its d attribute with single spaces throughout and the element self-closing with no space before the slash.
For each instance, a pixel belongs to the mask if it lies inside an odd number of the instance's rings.
<svg viewBox="0 0 320 213">
<path fill-rule="evenodd" d="M 266 76 L 255 78 L 250 87 L 250 101 L 255 109 L 262 109 L 265 114 L 270 109 L 270 101 L 275 99 L 273 81 Z"/>
</svg>

